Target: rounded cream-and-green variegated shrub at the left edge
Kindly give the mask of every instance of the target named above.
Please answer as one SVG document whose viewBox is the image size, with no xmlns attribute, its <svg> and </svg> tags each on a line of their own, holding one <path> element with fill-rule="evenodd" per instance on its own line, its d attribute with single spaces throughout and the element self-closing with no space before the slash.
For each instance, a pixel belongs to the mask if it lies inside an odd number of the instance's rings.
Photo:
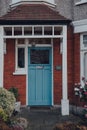
<svg viewBox="0 0 87 130">
<path fill-rule="evenodd" d="M 9 92 L 5 88 L 0 88 L 0 106 L 8 117 L 13 113 L 15 101 L 16 99 L 13 93 Z"/>
</svg>

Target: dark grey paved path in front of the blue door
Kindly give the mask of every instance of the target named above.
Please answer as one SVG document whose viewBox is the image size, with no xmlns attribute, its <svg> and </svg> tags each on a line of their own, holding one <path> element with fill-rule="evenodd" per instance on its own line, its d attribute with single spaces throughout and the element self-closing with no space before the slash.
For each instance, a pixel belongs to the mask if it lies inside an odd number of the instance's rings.
<svg viewBox="0 0 87 130">
<path fill-rule="evenodd" d="M 70 116 L 61 116 L 60 110 L 56 109 L 29 109 L 23 108 L 19 114 L 28 120 L 27 130 L 53 130 L 56 123 L 65 121 L 80 121 L 80 118 L 70 114 Z"/>
</svg>

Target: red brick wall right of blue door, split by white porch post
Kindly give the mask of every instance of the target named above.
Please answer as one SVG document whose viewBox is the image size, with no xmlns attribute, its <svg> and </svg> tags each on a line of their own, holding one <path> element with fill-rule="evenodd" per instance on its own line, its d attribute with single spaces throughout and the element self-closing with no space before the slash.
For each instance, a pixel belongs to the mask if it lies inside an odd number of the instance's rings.
<svg viewBox="0 0 87 130">
<path fill-rule="evenodd" d="M 74 35 L 73 28 L 68 26 L 67 31 L 67 59 L 68 59 L 68 98 L 73 103 L 74 96 Z M 62 70 L 56 70 L 55 66 L 62 66 L 62 54 L 60 54 L 60 40 L 54 39 L 54 103 L 60 104 L 62 99 Z"/>
</svg>

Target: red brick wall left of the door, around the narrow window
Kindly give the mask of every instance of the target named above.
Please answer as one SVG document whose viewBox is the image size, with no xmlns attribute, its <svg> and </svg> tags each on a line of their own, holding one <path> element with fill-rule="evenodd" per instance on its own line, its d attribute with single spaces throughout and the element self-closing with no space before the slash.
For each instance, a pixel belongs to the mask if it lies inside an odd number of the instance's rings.
<svg viewBox="0 0 87 130">
<path fill-rule="evenodd" d="M 7 53 L 4 55 L 4 87 L 14 86 L 19 90 L 19 100 L 26 104 L 26 76 L 15 76 L 15 40 L 7 40 Z"/>
</svg>

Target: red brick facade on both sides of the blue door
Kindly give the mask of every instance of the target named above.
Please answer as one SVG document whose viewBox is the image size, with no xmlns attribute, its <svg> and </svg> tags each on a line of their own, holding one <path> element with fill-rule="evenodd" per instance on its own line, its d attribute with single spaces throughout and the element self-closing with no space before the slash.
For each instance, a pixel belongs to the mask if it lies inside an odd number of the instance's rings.
<svg viewBox="0 0 87 130">
<path fill-rule="evenodd" d="M 68 27 L 68 95 L 70 103 L 73 103 L 74 93 L 74 45 L 73 28 Z M 79 37 L 78 37 L 79 38 Z M 19 99 L 26 104 L 26 76 L 13 75 L 15 71 L 15 40 L 7 40 L 7 53 L 4 55 L 4 87 L 9 89 L 15 86 L 19 89 Z M 79 41 L 78 41 L 79 44 Z M 56 66 L 62 67 L 62 54 L 60 53 L 60 39 L 53 40 L 53 75 L 54 75 L 54 104 L 60 104 L 62 99 L 62 69 L 57 70 Z M 75 68 L 77 70 L 77 68 Z M 76 75 L 75 75 L 76 77 Z"/>
</svg>

